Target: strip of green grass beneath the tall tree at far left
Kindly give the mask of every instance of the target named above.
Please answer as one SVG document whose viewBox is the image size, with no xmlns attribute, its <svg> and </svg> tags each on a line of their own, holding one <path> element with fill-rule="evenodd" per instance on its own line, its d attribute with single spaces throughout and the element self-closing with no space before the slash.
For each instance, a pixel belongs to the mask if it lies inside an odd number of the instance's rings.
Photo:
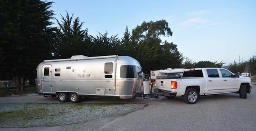
<svg viewBox="0 0 256 131">
<path fill-rule="evenodd" d="M 29 94 L 34 93 L 37 91 L 37 88 L 35 85 L 29 85 L 25 87 L 25 91 L 17 91 L 17 88 L 11 88 L 11 95 L 17 95 L 17 94 Z M 0 97 L 3 97 L 6 95 L 6 89 L 0 89 Z"/>
</svg>

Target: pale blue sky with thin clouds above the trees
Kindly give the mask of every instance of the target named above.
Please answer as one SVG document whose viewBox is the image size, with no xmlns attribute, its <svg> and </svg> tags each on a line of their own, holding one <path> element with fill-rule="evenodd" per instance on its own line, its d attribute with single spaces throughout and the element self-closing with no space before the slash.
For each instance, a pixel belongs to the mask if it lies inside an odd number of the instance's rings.
<svg viewBox="0 0 256 131">
<path fill-rule="evenodd" d="M 84 22 L 90 35 L 122 37 L 143 21 L 167 20 L 173 42 L 193 61 L 249 59 L 256 55 L 256 0 L 54 0 L 55 17 L 65 11 Z M 55 20 L 54 20 L 55 21 Z"/>
</svg>

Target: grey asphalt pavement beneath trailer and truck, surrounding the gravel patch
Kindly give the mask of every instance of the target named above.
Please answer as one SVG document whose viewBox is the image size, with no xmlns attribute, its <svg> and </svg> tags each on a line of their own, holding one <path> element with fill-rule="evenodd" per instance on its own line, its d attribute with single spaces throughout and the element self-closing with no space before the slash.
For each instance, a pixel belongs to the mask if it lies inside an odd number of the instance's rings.
<svg viewBox="0 0 256 131">
<path fill-rule="evenodd" d="M 254 83 L 256 84 L 256 83 Z M 148 103 L 143 110 L 125 116 L 96 119 L 82 124 L 33 127 L 0 128 L 4 131 L 63 131 L 63 130 L 102 130 L 102 131 L 157 131 L 157 130 L 246 130 L 256 131 L 256 85 L 247 99 L 239 94 L 202 96 L 198 103 L 188 105 L 182 99 L 165 97 L 151 99 L 100 99 L 90 98 L 83 103 Z M 56 98 L 30 95 L 20 97 L 0 97 L 0 103 L 58 103 Z"/>
</svg>

